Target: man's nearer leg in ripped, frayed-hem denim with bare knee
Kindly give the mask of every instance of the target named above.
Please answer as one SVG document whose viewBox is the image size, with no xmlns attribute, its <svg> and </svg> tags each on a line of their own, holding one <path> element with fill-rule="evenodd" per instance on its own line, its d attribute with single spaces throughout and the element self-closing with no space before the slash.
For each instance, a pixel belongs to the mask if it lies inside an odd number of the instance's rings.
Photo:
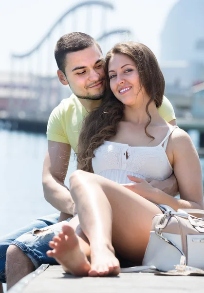
<svg viewBox="0 0 204 293">
<path fill-rule="evenodd" d="M 43 263 L 58 265 L 54 258 L 46 255 L 46 252 L 50 249 L 49 241 L 58 235 L 63 223 L 32 230 L 11 243 L 6 254 L 7 290 Z"/>
</svg>

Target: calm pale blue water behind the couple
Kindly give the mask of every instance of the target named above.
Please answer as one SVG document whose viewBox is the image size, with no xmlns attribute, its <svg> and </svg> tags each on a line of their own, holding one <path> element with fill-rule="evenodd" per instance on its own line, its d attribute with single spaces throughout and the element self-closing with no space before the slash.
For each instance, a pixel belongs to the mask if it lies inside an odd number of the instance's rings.
<svg viewBox="0 0 204 293">
<path fill-rule="evenodd" d="M 46 136 L 0 130 L 0 236 L 56 212 L 44 197 L 42 165 Z M 201 160 L 204 173 L 204 159 Z M 71 156 L 67 179 L 76 168 Z M 65 184 L 69 186 L 66 179 Z"/>
</svg>

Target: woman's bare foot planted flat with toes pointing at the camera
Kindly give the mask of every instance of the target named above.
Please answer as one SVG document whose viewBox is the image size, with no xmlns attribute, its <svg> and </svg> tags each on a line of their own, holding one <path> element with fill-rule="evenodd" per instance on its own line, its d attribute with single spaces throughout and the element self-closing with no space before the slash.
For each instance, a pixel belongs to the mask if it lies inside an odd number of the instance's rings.
<svg viewBox="0 0 204 293">
<path fill-rule="evenodd" d="M 120 264 L 114 255 L 112 248 L 103 247 L 102 249 L 91 250 L 91 270 L 90 277 L 118 275 L 120 273 Z"/>
</svg>

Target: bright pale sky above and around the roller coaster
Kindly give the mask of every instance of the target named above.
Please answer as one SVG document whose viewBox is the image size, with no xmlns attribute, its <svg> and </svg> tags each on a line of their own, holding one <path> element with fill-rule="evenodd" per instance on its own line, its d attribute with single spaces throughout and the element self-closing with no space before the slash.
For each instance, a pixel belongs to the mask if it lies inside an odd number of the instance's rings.
<svg viewBox="0 0 204 293">
<path fill-rule="evenodd" d="M 82 0 L 3 1 L 0 9 L 0 71 L 9 70 L 11 53 L 25 53 L 33 48 L 55 21 L 78 2 Z M 159 59 L 160 33 L 170 9 L 178 0 L 109 2 L 114 5 L 115 10 L 107 14 L 107 29 L 130 29 L 133 32 L 131 39 L 148 45 Z M 97 9 L 93 11 L 93 34 L 97 13 Z M 80 23 L 80 15 L 78 20 Z M 63 31 L 62 34 L 66 32 L 68 31 Z"/>
</svg>

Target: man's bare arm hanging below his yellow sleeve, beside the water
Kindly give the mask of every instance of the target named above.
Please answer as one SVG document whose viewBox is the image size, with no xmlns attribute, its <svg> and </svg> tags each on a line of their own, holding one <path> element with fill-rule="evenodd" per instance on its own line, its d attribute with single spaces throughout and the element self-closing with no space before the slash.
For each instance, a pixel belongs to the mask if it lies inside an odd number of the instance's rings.
<svg viewBox="0 0 204 293">
<path fill-rule="evenodd" d="M 69 189 L 64 185 L 71 154 L 71 146 L 64 143 L 48 141 L 42 173 L 42 185 L 45 199 L 59 211 L 74 214 L 74 201 Z"/>
</svg>

